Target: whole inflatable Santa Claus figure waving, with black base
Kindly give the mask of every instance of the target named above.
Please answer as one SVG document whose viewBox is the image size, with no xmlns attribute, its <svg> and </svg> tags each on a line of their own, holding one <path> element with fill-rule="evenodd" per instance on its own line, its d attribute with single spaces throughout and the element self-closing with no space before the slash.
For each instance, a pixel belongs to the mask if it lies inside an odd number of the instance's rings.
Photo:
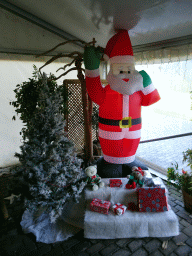
<svg viewBox="0 0 192 256">
<path fill-rule="evenodd" d="M 110 63 L 106 87 L 100 81 L 100 57 L 99 48 L 85 48 L 86 87 L 92 101 L 99 105 L 99 140 L 104 159 L 98 163 L 98 174 L 103 178 L 125 177 L 133 165 L 137 166 L 141 106 L 157 102 L 160 96 L 149 75 L 135 70 L 127 30 L 115 34 L 105 48 L 104 59 Z M 126 166 L 130 167 L 127 173 Z"/>
</svg>

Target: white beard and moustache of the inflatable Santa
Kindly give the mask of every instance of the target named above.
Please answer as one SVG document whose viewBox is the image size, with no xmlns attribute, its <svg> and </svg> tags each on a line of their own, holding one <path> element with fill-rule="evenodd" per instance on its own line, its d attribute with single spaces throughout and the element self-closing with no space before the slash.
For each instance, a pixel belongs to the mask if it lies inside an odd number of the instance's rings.
<svg viewBox="0 0 192 256">
<path fill-rule="evenodd" d="M 129 79 L 129 81 L 123 81 L 122 79 L 124 78 Z M 112 71 L 110 70 L 107 75 L 107 81 L 112 90 L 124 95 L 131 95 L 134 92 L 144 89 L 143 77 L 136 70 L 134 70 L 132 74 L 126 75 L 126 77 L 123 74 L 119 74 L 118 76 L 113 75 Z"/>
</svg>

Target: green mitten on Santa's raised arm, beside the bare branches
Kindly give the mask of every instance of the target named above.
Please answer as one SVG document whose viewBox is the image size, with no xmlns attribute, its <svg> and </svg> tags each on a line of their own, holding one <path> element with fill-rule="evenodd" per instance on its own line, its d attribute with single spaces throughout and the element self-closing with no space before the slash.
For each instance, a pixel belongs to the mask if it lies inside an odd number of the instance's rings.
<svg viewBox="0 0 192 256">
<path fill-rule="evenodd" d="M 84 51 L 85 68 L 89 70 L 98 69 L 101 56 L 102 56 L 102 53 L 99 48 L 95 48 L 94 46 L 85 47 L 85 51 Z"/>
</svg>

